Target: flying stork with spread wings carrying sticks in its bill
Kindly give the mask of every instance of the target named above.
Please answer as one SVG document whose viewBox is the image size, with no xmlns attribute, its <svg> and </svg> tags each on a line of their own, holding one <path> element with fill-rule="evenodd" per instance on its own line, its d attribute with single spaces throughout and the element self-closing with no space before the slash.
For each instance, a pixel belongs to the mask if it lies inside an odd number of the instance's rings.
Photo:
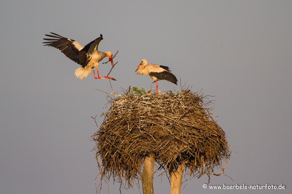
<svg viewBox="0 0 292 194">
<path fill-rule="evenodd" d="M 99 38 L 89 42 L 85 47 L 82 47 L 79 42 L 75 40 L 65 38 L 52 32 L 51 34 L 53 35 L 46 34 L 46 36 L 51 38 L 44 38 L 44 40 L 49 40 L 49 42 L 43 42 L 46 44 L 44 46 L 55 47 L 56 49 L 59 49 L 69 59 L 81 65 L 81 67 L 74 71 L 77 78 L 79 77 L 82 79 L 83 77 L 87 77 L 88 74 L 91 74 L 92 69 L 95 79 L 108 78 L 116 80 L 108 76 L 100 77 L 98 73 L 98 62 L 100 62 L 105 57 L 109 58 L 113 66 L 112 53 L 110 51 L 104 53 L 98 51 L 98 44 L 103 39 L 101 34 Z M 94 67 L 97 71 L 97 77 L 95 76 Z"/>
</svg>

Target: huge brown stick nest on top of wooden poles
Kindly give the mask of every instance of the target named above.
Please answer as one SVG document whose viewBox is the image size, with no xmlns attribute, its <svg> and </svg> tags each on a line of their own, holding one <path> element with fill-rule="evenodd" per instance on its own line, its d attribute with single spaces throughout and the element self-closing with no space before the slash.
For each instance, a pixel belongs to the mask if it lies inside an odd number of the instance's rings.
<svg viewBox="0 0 292 194">
<path fill-rule="evenodd" d="M 211 101 L 190 90 L 163 95 L 114 94 L 105 120 L 92 137 L 100 180 L 133 187 L 142 175 L 145 156 L 158 166 L 185 163 L 191 176 L 210 178 L 214 167 L 224 169 L 230 149 L 225 132 L 209 114 Z M 125 181 L 123 183 L 123 181 Z"/>
</svg>

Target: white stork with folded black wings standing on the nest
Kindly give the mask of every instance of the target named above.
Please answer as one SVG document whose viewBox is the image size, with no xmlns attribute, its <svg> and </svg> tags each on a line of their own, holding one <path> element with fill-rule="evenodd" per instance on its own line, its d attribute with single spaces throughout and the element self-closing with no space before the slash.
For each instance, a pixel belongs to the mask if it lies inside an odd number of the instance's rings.
<svg viewBox="0 0 292 194">
<path fill-rule="evenodd" d="M 149 75 L 152 79 L 154 79 L 152 83 L 156 82 L 156 93 L 158 93 L 157 81 L 159 80 L 167 80 L 174 83 L 175 85 L 178 85 L 178 80 L 171 73 L 168 67 L 163 65 L 155 65 L 152 63 L 147 64 L 146 59 L 141 60 L 141 63 L 135 72 L 137 72 L 136 74 L 139 75 Z"/>
</svg>

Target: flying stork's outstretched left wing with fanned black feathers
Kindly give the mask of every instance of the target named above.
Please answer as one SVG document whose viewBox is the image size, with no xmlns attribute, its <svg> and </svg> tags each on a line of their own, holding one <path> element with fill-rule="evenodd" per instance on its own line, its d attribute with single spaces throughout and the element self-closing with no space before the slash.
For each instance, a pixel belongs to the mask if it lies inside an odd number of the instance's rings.
<svg viewBox="0 0 292 194">
<path fill-rule="evenodd" d="M 46 34 L 46 36 L 51 38 L 44 38 L 44 40 L 49 40 L 48 42 L 43 42 L 46 44 L 44 46 L 55 47 L 64 53 L 69 59 L 80 64 L 79 51 L 81 51 L 84 47 L 82 47 L 79 42 L 75 40 L 65 38 L 52 32 L 51 34 L 54 34 L 55 36 Z"/>
</svg>

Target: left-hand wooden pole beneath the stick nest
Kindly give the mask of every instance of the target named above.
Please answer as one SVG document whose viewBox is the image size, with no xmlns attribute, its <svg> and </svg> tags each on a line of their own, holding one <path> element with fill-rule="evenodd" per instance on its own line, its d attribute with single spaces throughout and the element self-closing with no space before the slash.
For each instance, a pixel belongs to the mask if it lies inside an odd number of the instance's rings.
<svg viewBox="0 0 292 194">
<path fill-rule="evenodd" d="M 146 156 L 142 173 L 143 194 L 153 194 L 154 156 Z"/>
</svg>

